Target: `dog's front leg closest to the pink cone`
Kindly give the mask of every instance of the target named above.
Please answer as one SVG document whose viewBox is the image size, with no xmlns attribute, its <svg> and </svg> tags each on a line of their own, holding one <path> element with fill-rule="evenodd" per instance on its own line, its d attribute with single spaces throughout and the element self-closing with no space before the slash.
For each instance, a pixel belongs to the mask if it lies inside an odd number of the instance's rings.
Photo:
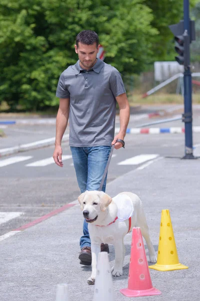
<svg viewBox="0 0 200 301">
<path fill-rule="evenodd" d="M 123 259 L 125 256 L 123 240 L 117 239 L 114 241 L 113 245 L 114 245 L 114 252 L 115 252 L 115 261 L 114 261 L 114 266 L 112 267 L 112 276 L 119 277 L 123 274 L 122 266 L 123 266 Z"/>
</svg>

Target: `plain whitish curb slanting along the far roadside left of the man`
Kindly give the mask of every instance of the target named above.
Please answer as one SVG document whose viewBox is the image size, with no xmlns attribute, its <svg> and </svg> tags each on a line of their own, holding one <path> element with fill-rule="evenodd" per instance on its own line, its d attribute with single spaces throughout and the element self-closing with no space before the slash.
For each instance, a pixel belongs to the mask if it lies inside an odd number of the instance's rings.
<svg viewBox="0 0 200 301">
<path fill-rule="evenodd" d="M 69 134 L 65 134 L 62 137 L 62 142 L 67 142 L 69 138 Z M 2 148 L 0 149 L 0 157 L 7 156 L 7 155 L 13 155 L 20 152 L 25 152 L 26 150 L 30 149 L 36 149 L 44 146 L 50 146 L 53 145 L 55 142 L 55 137 L 43 139 L 27 144 L 21 144 L 18 146 L 8 147 L 8 148 Z"/>
</svg>

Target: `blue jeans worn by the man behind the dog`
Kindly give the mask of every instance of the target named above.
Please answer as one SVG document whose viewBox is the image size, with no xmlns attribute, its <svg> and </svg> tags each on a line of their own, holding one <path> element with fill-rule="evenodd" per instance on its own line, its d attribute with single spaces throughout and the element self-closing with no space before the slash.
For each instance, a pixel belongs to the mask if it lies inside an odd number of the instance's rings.
<svg viewBox="0 0 200 301">
<path fill-rule="evenodd" d="M 80 192 L 98 190 L 109 157 L 111 146 L 74 147 L 71 146 L 73 165 Z M 106 179 L 102 191 L 105 192 Z M 83 236 L 80 237 L 80 249 L 90 247 L 88 224 L 83 222 Z"/>
</svg>

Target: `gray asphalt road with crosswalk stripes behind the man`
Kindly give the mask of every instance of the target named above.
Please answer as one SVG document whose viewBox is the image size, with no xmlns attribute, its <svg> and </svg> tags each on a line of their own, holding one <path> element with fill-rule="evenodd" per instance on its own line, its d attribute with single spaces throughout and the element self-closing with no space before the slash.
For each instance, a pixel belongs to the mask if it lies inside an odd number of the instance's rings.
<svg viewBox="0 0 200 301">
<path fill-rule="evenodd" d="M 181 158 L 184 155 L 184 134 L 126 134 L 125 142 L 125 149 L 114 150 L 108 171 L 108 182 L 134 169 L 145 168 L 145 164 L 153 158 L 155 160 L 160 156 Z M 200 143 L 200 134 L 194 134 L 193 143 L 194 145 Z M 68 156 L 66 157 L 68 159 L 63 161 L 63 168 L 56 166 L 53 161 L 41 166 L 46 160 L 50 160 L 53 146 L 0 159 L 0 164 L 3 165 L 4 160 L 15 161 L 15 157 L 23 157 L 21 159 L 23 161 L 0 167 L 0 212 L 20 214 L 16 218 L 0 223 L 0 235 L 33 221 L 78 197 L 79 188 L 68 143 L 63 144 L 62 148 L 63 156 Z M 125 161 L 133 157 L 133 161 Z M 132 189 L 134 190 L 134 183 L 132 183 Z"/>
</svg>

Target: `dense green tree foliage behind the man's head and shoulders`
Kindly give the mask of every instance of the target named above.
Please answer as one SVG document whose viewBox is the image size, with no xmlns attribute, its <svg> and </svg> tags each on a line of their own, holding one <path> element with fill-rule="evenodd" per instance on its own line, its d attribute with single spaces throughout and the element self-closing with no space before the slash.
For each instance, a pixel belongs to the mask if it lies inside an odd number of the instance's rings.
<svg viewBox="0 0 200 301">
<path fill-rule="evenodd" d="M 167 26 L 180 17 L 177 3 L 0 0 L 0 102 L 11 110 L 56 107 L 59 75 L 77 61 L 75 37 L 85 29 L 99 35 L 106 63 L 123 75 L 143 71 L 164 58 L 161 43 L 170 39 Z"/>
</svg>

